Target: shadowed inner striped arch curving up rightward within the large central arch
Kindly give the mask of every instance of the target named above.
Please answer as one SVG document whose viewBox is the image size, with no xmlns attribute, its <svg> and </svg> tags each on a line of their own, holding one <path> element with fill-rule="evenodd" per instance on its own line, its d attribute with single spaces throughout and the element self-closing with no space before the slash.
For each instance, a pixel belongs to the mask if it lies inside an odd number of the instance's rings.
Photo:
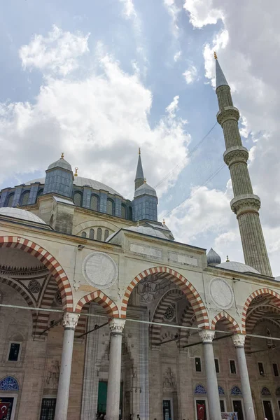
<svg viewBox="0 0 280 420">
<path fill-rule="evenodd" d="M 174 300 L 178 299 L 178 297 L 183 296 L 182 290 L 179 288 L 168 290 L 160 299 L 158 306 L 155 308 L 155 313 L 153 314 L 153 322 L 162 323 L 164 321 L 163 317 L 165 315 L 165 311 L 169 306 L 174 303 Z M 166 323 L 168 326 L 169 324 Z M 160 338 L 160 331 L 162 329 L 162 325 L 151 325 L 150 328 L 150 339 L 151 339 L 151 346 L 152 348 L 158 347 L 158 344 L 161 342 Z"/>
</svg>

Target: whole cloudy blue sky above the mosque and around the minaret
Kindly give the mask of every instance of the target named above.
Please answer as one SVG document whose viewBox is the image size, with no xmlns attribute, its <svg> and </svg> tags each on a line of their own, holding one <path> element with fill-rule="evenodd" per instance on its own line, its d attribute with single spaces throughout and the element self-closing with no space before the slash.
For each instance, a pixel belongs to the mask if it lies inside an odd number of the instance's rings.
<svg viewBox="0 0 280 420">
<path fill-rule="evenodd" d="M 4 3 L 0 188 L 43 176 L 64 151 L 79 175 L 132 199 L 141 146 L 148 183 L 160 183 L 160 219 L 165 216 L 176 239 L 243 261 L 223 132 L 215 125 L 215 49 L 243 117 L 267 247 L 280 274 L 280 197 L 276 183 L 271 186 L 280 174 L 279 25 L 269 10 L 263 25 L 264 0 L 239 6 L 221 0 Z"/>
</svg>

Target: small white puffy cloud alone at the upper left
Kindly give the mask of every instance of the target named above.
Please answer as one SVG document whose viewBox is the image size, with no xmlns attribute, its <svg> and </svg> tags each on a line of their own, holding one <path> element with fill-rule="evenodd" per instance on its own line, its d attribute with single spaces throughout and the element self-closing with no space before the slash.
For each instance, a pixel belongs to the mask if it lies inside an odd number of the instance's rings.
<svg viewBox="0 0 280 420">
<path fill-rule="evenodd" d="M 48 36 L 35 35 L 28 45 L 22 45 L 19 51 L 22 67 L 66 76 L 78 67 L 78 57 L 88 52 L 89 36 L 63 32 L 54 25 Z"/>
</svg>

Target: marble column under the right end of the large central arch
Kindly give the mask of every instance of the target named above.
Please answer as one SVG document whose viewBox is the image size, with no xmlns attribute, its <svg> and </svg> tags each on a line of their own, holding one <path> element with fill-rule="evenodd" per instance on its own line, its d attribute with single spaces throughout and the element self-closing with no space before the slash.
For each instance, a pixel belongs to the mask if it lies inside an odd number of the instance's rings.
<svg viewBox="0 0 280 420">
<path fill-rule="evenodd" d="M 207 417 L 211 420 L 221 420 L 222 415 L 213 351 L 214 335 L 215 331 L 212 330 L 200 331 L 200 338 L 202 339 L 204 350 L 204 365 L 207 375 L 207 400 L 209 407 L 209 415 L 207 415 Z"/>
</svg>

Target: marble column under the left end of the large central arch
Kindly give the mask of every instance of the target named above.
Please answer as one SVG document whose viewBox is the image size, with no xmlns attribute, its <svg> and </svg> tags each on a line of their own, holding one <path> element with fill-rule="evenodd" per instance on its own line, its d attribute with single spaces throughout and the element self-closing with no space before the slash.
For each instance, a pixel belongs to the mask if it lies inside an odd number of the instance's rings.
<svg viewBox="0 0 280 420">
<path fill-rule="evenodd" d="M 120 373 L 122 367 L 122 335 L 125 320 L 113 318 L 110 328 L 109 377 L 106 420 L 118 420 L 120 409 Z"/>
</svg>

